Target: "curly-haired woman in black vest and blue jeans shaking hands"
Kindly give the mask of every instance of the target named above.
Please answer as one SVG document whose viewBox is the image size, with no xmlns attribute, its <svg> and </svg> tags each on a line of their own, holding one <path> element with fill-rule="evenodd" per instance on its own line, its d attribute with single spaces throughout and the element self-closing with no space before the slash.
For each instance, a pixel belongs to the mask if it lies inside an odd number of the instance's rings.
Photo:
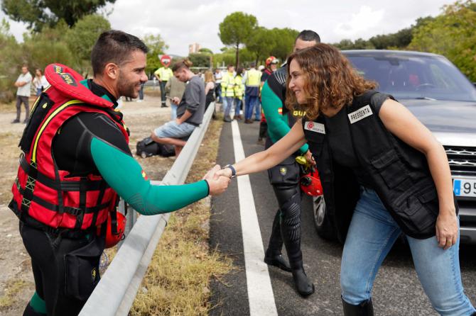
<svg viewBox="0 0 476 316">
<path fill-rule="evenodd" d="M 345 241 L 345 315 L 373 315 L 377 271 L 401 232 L 423 290 L 440 315 L 476 315 L 458 261 L 458 204 L 443 146 L 392 96 L 373 91 L 330 45 L 288 57 L 286 106 L 306 111 L 279 142 L 228 165 L 237 176 L 273 167 L 305 142 L 323 184 L 326 208 Z"/>
</svg>

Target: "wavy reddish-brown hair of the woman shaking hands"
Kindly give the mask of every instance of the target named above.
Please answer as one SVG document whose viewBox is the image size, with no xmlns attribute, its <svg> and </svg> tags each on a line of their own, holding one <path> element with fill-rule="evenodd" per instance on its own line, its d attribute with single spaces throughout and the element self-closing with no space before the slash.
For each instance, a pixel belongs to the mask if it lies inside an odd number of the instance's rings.
<svg viewBox="0 0 476 316">
<path fill-rule="evenodd" d="M 298 50 L 288 57 L 287 86 L 291 80 L 290 66 L 293 60 L 301 67 L 305 77 L 303 92 L 308 100 L 305 104 L 298 104 L 293 91 L 286 89 L 286 107 L 291 111 L 305 111 L 308 120 L 318 118 L 323 109 L 350 104 L 355 96 L 377 86 L 374 81 L 359 75 L 337 48 L 323 43 Z"/>
</svg>

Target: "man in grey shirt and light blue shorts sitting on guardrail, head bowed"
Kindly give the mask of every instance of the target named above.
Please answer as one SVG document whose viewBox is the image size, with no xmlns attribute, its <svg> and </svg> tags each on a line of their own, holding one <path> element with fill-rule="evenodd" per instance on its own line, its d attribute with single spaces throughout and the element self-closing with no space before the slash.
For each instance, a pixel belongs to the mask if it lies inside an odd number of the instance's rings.
<svg viewBox="0 0 476 316">
<path fill-rule="evenodd" d="M 175 156 L 180 154 L 187 142 L 185 139 L 202 123 L 205 114 L 205 84 L 190 70 L 190 67 L 192 62 L 188 59 L 173 64 L 173 75 L 178 80 L 187 82 L 182 99 L 173 97 L 171 100 L 178 104 L 177 118 L 156 128 L 151 134 L 155 142 L 174 145 Z"/>
</svg>

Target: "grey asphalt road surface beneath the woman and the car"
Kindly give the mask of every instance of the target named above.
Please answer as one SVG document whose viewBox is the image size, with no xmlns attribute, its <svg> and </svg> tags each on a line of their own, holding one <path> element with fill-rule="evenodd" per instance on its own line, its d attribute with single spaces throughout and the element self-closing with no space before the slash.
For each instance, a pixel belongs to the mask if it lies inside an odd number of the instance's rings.
<svg viewBox="0 0 476 316">
<path fill-rule="evenodd" d="M 263 149 L 256 145 L 259 123 L 239 123 L 239 130 L 246 156 Z M 232 129 L 225 123 L 217 163 L 233 162 Z M 266 249 L 277 202 L 266 172 L 252 174 L 250 181 Z M 301 248 L 305 271 L 314 281 L 315 293 L 309 298 L 301 298 L 294 290 L 291 273 L 269 267 L 278 315 L 342 315 L 339 283 L 342 246 L 316 235 L 311 203 L 310 198 L 303 201 Z M 234 180 L 226 193 L 212 200 L 210 245 L 234 259 L 236 269 L 225 278 L 212 281 L 211 301 L 215 308 L 210 315 L 249 315 L 241 227 L 237 181 Z M 462 245 L 460 261 L 465 293 L 476 304 L 476 247 Z M 375 315 L 437 315 L 423 293 L 413 269 L 411 253 L 403 242 L 397 242 L 379 270 L 373 300 Z"/>
</svg>

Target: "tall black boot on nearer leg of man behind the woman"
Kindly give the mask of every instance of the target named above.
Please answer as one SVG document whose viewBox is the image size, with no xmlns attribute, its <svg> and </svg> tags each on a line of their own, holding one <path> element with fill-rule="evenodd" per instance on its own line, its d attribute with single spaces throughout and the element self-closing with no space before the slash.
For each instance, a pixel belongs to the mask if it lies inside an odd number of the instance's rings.
<svg viewBox="0 0 476 316">
<path fill-rule="evenodd" d="M 283 203 L 281 208 L 281 235 L 283 235 L 286 252 L 288 252 L 289 264 L 293 273 L 296 290 L 303 296 L 314 293 L 314 284 L 305 274 L 303 267 L 303 254 L 301 252 L 301 194 L 295 191 L 293 196 Z"/>
</svg>

